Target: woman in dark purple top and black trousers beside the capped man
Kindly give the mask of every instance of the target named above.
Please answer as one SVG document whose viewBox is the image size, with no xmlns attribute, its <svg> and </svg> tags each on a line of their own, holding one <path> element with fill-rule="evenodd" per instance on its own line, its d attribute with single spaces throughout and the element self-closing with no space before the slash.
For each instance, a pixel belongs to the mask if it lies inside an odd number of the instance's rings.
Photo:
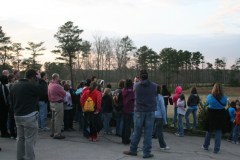
<svg viewBox="0 0 240 160">
<path fill-rule="evenodd" d="M 125 87 L 122 90 L 123 96 L 123 129 L 122 129 L 122 143 L 129 144 L 131 136 L 131 125 L 133 123 L 134 112 L 134 91 L 133 82 L 131 79 L 126 79 Z"/>
</svg>

